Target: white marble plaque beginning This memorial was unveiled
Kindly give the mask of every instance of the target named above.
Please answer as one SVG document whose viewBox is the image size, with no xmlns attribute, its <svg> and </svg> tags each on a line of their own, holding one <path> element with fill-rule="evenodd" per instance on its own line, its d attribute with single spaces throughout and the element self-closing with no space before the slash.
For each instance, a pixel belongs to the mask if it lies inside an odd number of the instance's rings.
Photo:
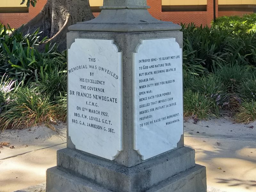
<svg viewBox="0 0 256 192">
<path fill-rule="evenodd" d="M 113 160 L 122 150 L 122 53 L 113 40 L 68 49 L 68 135 L 76 149 Z"/>
</svg>

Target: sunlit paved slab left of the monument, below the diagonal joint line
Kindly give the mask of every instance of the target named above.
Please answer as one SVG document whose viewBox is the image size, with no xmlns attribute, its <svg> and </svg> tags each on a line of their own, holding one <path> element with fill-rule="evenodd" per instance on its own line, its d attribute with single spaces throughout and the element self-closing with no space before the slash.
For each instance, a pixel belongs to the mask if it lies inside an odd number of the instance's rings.
<svg viewBox="0 0 256 192">
<path fill-rule="evenodd" d="M 16 191 L 44 182 L 46 170 L 56 166 L 56 151 L 65 147 L 66 144 L 57 145 L 1 160 L 0 191 Z"/>
</svg>

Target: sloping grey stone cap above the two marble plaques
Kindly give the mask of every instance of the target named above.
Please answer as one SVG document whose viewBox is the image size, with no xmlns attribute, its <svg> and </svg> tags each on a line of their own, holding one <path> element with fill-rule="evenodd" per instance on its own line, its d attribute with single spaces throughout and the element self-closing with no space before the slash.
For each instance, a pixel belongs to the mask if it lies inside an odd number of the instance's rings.
<svg viewBox="0 0 256 192">
<path fill-rule="evenodd" d="M 118 16 L 117 16 L 118 15 Z M 70 31 L 143 32 L 180 30 L 180 25 L 156 20 L 147 9 L 103 9 L 90 21 L 68 27 Z"/>
</svg>

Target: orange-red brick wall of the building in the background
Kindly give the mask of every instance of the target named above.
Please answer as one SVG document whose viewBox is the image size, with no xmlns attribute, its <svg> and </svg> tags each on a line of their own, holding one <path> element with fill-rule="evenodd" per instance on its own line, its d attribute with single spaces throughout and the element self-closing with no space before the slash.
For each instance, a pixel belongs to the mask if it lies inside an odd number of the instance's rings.
<svg viewBox="0 0 256 192">
<path fill-rule="evenodd" d="M 29 7 L 29 13 L 0 13 L 0 22 L 9 23 L 12 28 L 18 28 L 22 24 L 27 23 L 34 18 L 43 8 L 47 0 L 38 0 L 36 7 Z M 194 22 L 197 26 L 210 25 L 213 20 L 213 0 L 207 0 L 207 11 L 191 11 L 191 12 L 162 12 L 162 0 L 148 0 L 151 7 L 149 13 L 158 20 L 172 21 L 174 23 L 190 23 Z M 218 12 L 218 0 L 216 0 L 216 17 L 223 15 L 239 15 L 245 13 L 242 11 L 220 11 Z M 93 13 L 97 17 L 100 13 Z"/>
</svg>

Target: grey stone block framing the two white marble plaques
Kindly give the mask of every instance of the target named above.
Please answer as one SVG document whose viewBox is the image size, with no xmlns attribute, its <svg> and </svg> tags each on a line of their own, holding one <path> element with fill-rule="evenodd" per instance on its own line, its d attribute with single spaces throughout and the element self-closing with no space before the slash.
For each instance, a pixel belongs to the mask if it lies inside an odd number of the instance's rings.
<svg viewBox="0 0 256 192">
<path fill-rule="evenodd" d="M 140 44 L 141 39 L 156 39 L 175 37 L 176 41 L 183 46 L 183 38 L 181 31 L 150 31 L 150 32 L 134 32 L 134 33 L 114 33 L 114 32 L 88 32 L 88 31 L 71 31 L 67 34 L 68 49 L 75 42 L 76 38 L 88 39 L 112 39 L 122 52 L 122 75 L 123 75 L 123 150 L 119 153 L 114 163 L 126 167 L 132 167 L 143 161 L 140 155 L 133 149 L 133 81 L 132 81 L 132 53 Z M 180 139 L 178 148 L 183 147 L 183 135 Z M 68 148 L 75 148 L 72 139 L 68 137 Z"/>
</svg>

